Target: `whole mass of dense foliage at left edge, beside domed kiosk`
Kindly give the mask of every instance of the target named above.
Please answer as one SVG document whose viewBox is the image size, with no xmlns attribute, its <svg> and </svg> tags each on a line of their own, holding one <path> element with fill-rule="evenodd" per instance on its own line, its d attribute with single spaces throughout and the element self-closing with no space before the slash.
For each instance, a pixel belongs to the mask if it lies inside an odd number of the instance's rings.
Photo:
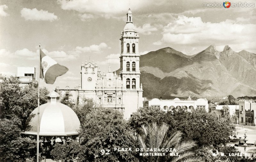
<svg viewBox="0 0 256 162">
<path fill-rule="evenodd" d="M 32 84 L 20 87 L 16 77 L 0 75 L 0 161 L 25 161 L 35 158 L 36 141 L 22 138 L 29 114 L 37 107 L 38 89 Z M 49 91 L 40 88 L 40 104 Z"/>
</svg>

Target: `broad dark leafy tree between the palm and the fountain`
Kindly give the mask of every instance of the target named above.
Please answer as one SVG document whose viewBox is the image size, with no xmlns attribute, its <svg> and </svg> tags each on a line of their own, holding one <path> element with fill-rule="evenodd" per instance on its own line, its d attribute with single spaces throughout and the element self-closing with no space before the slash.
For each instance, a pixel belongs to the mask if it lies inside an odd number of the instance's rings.
<svg viewBox="0 0 256 162">
<path fill-rule="evenodd" d="M 226 144 L 235 130 L 230 117 L 219 119 L 216 114 L 199 109 L 167 112 L 165 119 L 170 134 L 181 131 L 184 139 L 196 141 L 199 147 Z"/>
</svg>

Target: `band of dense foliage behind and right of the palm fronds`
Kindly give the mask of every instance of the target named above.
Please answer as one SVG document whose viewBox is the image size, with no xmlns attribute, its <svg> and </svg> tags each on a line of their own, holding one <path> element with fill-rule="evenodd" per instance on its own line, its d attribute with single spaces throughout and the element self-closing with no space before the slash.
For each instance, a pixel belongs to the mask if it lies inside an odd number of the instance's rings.
<svg viewBox="0 0 256 162">
<path fill-rule="evenodd" d="M 133 113 L 129 122 L 132 127 L 138 127 L 140 123 L 146 122 L 165 122 L 170 127 L 169 134 L 176 131 L 183 133 L 183 138 L 186 140 L 194 140 L 198 146 L 220 145 L 226 144 L 229 136 L 232 135 L 235 127 L 232 125 L 230 116 L 219 119 L 216 114 L 208 113 L 205 110 L 193 110 L 192 112 L 179 110 L 168 111 L 167 113 L 155 113 L 155 109 L 144 108 L 139 109 Z M 151 115 L 155 117 L 151 120 Z M 159 119 L 159 120 L 154 120 Z M 138 124 L 134 124 L 138 123 Z M 205 131 L 207 130 L 207 131 Z"/>
</svg>

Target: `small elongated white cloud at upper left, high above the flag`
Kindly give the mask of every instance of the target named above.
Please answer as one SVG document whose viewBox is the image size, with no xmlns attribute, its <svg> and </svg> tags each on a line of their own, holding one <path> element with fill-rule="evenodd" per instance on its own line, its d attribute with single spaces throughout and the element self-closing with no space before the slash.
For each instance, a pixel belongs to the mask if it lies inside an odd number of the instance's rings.
<svg viewBox="0 0 256 162">
<path fill-rule="evenodd" d="M 29 8 L 23 8 L 20 11 L 20 13 L 21 13 L 21 17 L 23 17 L 25 20 L 53 21 L 58 19 L 58 17 L 54 15 L 54 13 L 50 13 L 44 10 L 38 11 L 36 8 L 32 10 Z"/>
</svg>

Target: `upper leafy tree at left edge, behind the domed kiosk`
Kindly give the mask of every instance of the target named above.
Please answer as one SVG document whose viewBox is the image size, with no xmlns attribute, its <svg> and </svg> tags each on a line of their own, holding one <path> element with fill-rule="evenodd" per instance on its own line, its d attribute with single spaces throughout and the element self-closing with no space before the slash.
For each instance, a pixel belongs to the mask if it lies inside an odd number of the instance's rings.
<svg viewBox="0 0 256 162">
<path fill-rule="evenodd" d="M 3 81 L 0 83 L 0 117 L 19 118 L 22 130 L 29 114 L 37 107 L 38 89 L 32 84 L 21 88 L 19 79 L 14 76 L 0 75 L 0 80 Z M 48 93 L 46 88 L 40 88 L 40 104 L 47 103 Z"/>
</svg>

